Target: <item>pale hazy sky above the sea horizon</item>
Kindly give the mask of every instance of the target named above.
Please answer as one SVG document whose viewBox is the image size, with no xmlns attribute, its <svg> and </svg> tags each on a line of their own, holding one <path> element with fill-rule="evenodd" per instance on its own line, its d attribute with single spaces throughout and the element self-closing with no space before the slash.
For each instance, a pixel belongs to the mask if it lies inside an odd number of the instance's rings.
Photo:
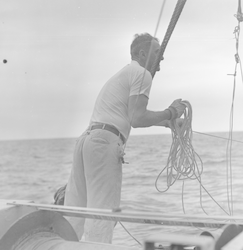
<svg viewBox="0 0 243 250">
<path fill-rule="evenodd" d="M 160 42 L 176 2 L 165 3 L 156 33 Z M 99 90 L 130 63 L 134 35 L 155 35 L 162 3 L 0 1 L 0 140 L 78 137 L 88 126 Z M 235 71 L 237 8 L 238 0 L 187 0 L 154 77 L 148 109 L 164 110 L 182 98 L 192 105 L 194 131 L 229 130 L 234 77 L 228 74 Z M 235 131 L 243 130 L 242 107 L 238 67 Z M 150 127 L 131 134 L 168 132 Z"/>
</svg>

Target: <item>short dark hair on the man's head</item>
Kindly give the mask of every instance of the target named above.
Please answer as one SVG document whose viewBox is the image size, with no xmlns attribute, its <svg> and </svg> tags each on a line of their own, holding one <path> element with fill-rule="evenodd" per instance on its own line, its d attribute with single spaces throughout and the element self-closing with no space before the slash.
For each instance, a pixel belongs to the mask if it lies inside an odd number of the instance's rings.
<svg viewBox="0 0 243 250">
<path fill-rule="evenodd" d="M 149 33 L 135 34 L 134 40 L 130 47 L 132 58 L 134 56 L 138 56 L 141 49 L 148 50 L 153 40 L 159 42 L 158 38 L 151 36 Z"/>
</svg>

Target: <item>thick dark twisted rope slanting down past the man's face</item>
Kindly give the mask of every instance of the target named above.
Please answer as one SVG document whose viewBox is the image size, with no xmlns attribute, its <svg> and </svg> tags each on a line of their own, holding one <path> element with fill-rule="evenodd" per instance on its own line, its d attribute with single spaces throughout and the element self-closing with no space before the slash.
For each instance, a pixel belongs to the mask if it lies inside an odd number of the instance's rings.
<svg viewBox="0 0 243 250">
<path fill-rule="evenodd" d="M 165 36 L 164 36 L 164 39 L 161 43 L 161 46 L 160 46 L 160 51 L 158 53 L 158 56 L 152 66 L 152 69 L 151 69 L 151 74 L 152 74 L 152 77 L 154 78 L 155 76 L 155 73 L 156 73 L 156 69 L 161 61 L 161 59 L 163 58 L 163 55 L 164 55 L 164 52 L 165 52 L 165 48 L 170 40 L 170 37 L 172 35 L 172 32 L 176 26 L 176 23 L 180 17 L 180 14 L 183 10 L 183 7 L 186 3 L 186 0 L 178 0 L 177 1 L 177 4 L 176 4 L 176 7 L 174 9 L 174 12 L 173 12 L 173 15 L 171 17 L 171 20 L 170 20 L 170 23 L 169 23 L 169 26 L 167 28 L 167 31 L 165 33 Z"/>
</svg>

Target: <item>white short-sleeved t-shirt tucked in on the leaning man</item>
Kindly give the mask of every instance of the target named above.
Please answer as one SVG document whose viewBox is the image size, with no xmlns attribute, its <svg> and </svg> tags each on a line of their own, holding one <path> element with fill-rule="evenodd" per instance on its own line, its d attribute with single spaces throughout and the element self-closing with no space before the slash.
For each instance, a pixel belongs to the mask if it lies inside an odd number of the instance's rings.
<svg viewBox="0 0 243 250">
<path fill-rule="evenodd" d="M 96 99 L 90 124 L 99 122 L 113 125 L 128 139 L 131 130 L 129 97 L 143 94 L 149 98 L 151 85 L 150 72 L 132 61 L 103 86 Z"/>
</svg>

